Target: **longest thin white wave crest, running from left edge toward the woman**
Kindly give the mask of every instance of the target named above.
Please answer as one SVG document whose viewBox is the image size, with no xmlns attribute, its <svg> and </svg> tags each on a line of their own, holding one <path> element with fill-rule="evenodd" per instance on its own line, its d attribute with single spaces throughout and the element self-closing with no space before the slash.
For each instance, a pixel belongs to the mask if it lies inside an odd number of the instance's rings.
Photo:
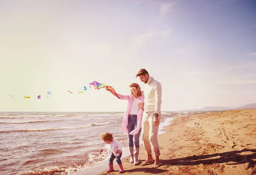
<svg viewBox="0 0 256 175">
<path fill-rule="evenodd" d="M 63 127 L 63 128 L 46 128 L 46 129 L 20 129 L 20 130 L 10 130 L 10 131 L 0 131 L 0 133 L 9 133 L 9 132 L 38 132 L 38 131 L 49 131 L 49 130 L 58 130 L 58 129 L 79 129 L 79 128 L 87 128 L 91 126 L 99 126 L 109 124 L 109 122 L 105 123 L 92 123 L 91 125 L 85 126 L 76 126 L 76 127 Z"/>
</svg>

